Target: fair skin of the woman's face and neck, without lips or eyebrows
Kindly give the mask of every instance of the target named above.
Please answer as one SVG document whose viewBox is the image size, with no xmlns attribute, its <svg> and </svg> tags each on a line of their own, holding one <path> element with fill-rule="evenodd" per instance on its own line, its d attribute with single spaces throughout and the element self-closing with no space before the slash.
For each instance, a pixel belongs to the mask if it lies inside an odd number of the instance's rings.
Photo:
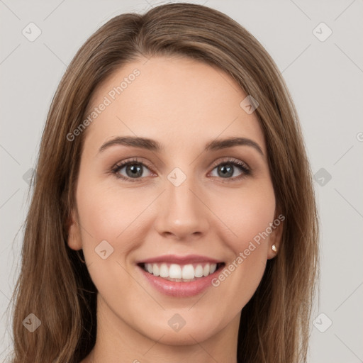
<svg viewBox="0 0 363 363">
<path fill-rule="evenodd" d="M 83 249 L 98 289 L 96 345 L 82 362 L 237 362 L 240 311 L 276 256 L 272 244 L 279 247 L 282 223 L 220 286 L 197 296 L 156 291 L 135 262 L 196 254 L 228 266 L 266 230 L 279 213 L 262 129 L 255 113 L 240 107 L 247 95 L 228 74 L 185 57 L 118 69 L 96 89 L 90 108 L 135 68 L 140 75 L 88 126 L 82 151 L 68 245 Z M 113 145 L 99 152 L 125 135 L 157 140 L 164 151 Z M 247 145 L 203 151 L 216 138 L 236 136 L 254 140 L 264 155 Z M 141 182 L 110 172 L 134 157 L 152 168 L 141 166 Z M 243 171 L 233 167 L 233 176 L 223 178 L 213 162 L 229 157 L 252 174 L 236 180 Z M 186 175 L 178 187 L 167 179 L 175 167 Z M 126 169 L 119 173 L 128 177 Z M 94 251 L 103 240 L 113 247 L 106 259 Z M 179 332 L 168 325 L 176 313 L 186 322 Z"/>
</svg>

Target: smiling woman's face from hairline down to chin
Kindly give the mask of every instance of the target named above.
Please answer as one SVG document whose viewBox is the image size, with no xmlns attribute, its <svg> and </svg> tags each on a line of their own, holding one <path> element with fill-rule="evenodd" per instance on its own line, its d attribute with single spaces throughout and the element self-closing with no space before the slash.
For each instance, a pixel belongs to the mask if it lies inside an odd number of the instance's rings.
<svg viewBox="0 0 363 363">
<path fill-rule="evenodd" d="M 246 96 L 182 57 L 130 63 L 96 89 L 68 244 L 84 251 L 104 328 L 170 345 L 236 334 L 281 235 Z"/>
</svg>

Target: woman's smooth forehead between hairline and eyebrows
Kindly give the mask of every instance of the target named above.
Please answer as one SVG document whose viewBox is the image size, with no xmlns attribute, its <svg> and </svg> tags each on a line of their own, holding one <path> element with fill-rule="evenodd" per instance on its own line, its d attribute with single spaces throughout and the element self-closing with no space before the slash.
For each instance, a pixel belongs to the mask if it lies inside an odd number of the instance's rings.
<svg viewBox="0 0 363 363">
<path fill-rule="evenodd" d="M 266 155 L 257 116 L 240 106 L 246 96 L 232 77 L 206 63 L 186 57 L 142 58 L 97 87 L 86 115 L 97 108 L 86 144 L 88 140 L 99 147 L 115 136 L 133 135 L 182 150 L 234 136 L 255 140 Z"/>
</svg>

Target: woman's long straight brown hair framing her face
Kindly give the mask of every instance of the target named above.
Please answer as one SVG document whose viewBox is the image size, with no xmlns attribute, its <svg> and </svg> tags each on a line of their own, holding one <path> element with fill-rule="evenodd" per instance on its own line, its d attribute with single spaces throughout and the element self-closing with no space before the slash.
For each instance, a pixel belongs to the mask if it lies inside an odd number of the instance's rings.
<svg viewBox="0 0 363 363">
<path fill-rule="evenodd" d="M 111 18 L 86 40 L 62 77 L 31 184 L 13 292 L 11 362 L 78 363 L 94 346 L 96 287 L 67 245 L 86 132 L 72 142 L 67 135 L 84 121 L 101 82 L 126 63 L 154 55 L 182 55 L 218 67 L 259 103 L 255 113 L 285 220 L 278 255 L 267 260 L 257 291 L 242 308 L 238 362 L 306 362 L 318 278 L 318 215 L 296 109 L 262 45 L 225 14 L 196 4 L 166 4 L 143 15 Z M 23 325 L 30 313 L 41 321 L 33 333 Z"/>
</svg>

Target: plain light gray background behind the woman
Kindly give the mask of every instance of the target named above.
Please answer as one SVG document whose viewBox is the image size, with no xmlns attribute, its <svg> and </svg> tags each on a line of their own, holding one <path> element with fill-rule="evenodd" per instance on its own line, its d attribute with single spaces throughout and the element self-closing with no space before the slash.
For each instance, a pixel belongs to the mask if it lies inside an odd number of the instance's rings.
<svg viewBox="0 0 363 363">
<path fill-rule="evenodd" d="M 316 175 L 321 221 L 320 292 L 308 362 L 363 362 L 363 2 L 191 2 L 245 26 L 286 79 Z M 0 0 L 0 360 L 11 348 L 6 308 L 20 267 L 27 173 L 57 84 L 102 24 L 162 3 Z M 30 22 L 42 32 L 33 42 L 22 33 Z M 329 30 L 318 26 L 321 22 L 333 31 L 327 39 Z"/>
</svg>

